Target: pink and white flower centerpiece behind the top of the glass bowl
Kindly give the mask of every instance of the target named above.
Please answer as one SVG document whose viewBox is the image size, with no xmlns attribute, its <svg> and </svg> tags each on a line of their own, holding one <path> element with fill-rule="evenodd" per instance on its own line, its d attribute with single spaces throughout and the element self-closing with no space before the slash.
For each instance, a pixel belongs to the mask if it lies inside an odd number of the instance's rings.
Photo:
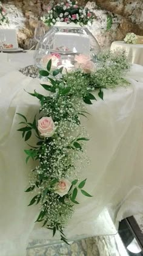
<svg viewBox="0 0 143 256">
<path fill-rule="evenodd" d="M 78 1 L 62 1 L 59 4 L 48 5 L 47 14 L 41 17 L 48 26 L 53 26 L 57 21 L 87 25 L 88 21 L 93 23 L 95 15 L 86 7 L 79 6 Z"/>
</svg>

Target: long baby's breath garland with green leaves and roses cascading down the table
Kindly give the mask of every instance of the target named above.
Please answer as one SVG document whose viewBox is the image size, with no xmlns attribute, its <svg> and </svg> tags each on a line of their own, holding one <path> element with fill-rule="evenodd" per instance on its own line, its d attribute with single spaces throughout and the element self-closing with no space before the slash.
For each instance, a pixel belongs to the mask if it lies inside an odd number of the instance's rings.
<svg viewBox="0 0 143 256">
<path fill-rule="evenodd" d="M 82 57 L 82 58 L 81 58 Z M 76 60 L 87 61 L 88 56 L 77 55 Z M 114 88 L 127 85 L 122 78 L 130 67 L 123 53 L 98 55 L 99 65 L 96 71 L 79 65 L 75 71 L 62 73 L 62 68 L 52 69 L 52 60 L 47 63 L 47 70 L 41 70 L 41 76 L 47 77 L 50 85 L 41 84 L 45 95 L 29 93 L 36 97 L 40 104 L 39 114 L 32 123 L 21 113 L 24 127 L 22 132 L 25 141 L 36 135 L 36 146 L 25 150 L 26 162 L 30 158 L 38 160 L 39 165 L 30 172 L 30 187 L 25 192 L 35 193 L 29 205 L 40 204 L 37 222 L 53 230 L 53 236 L 58 231 L 61 240 L 67 243 L 63 228 L 73 215 L 78 193 L 91 197 L 83 188 L 86 179 L 79 181 L 78 171 L 82 158 L 85 158 L 85 143 L 89 138 L 85 135 L 80 116 L 87 116 L 85 104 L 97 100 L 92 94 L 98 90 L 98 96 L 103 99 L 103 88 Z M 91 61 L 91 60 L 90 60 Z M 90 70 L 90 71 L 89 71 Z M 46 93 L 46 91 L 48 93 Z M 78 168 L 75 165 L 79 161 Z M 81 166 L 81 169 L 83 167 Z"/>
</svg>

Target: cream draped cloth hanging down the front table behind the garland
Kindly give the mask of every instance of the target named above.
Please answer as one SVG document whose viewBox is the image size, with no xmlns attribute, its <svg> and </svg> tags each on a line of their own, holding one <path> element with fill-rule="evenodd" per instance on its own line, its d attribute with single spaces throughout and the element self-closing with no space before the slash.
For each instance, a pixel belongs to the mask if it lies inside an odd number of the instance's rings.
<svg viewBox="0 0 143 256">
<path fill-rule="evenodd" d="M 10 65 L 10 63 L 8 64 Z M 2 68 L 2 67 L 1 67 Z M 38 206 L 27 207 L 32 195 L 24 193 L 33 162 L 25 163 L 19 129 L 19 116 L 32 120 L 39 109 L 38 100 L 24 91 L 43 93 L 38 79 L 19 71 L 0 77 L 0 255 L 24 256 L 29 238 L 52 238 L 47 229 L 35 226 Z M 2 70 L 1 70 L 2 71 Z M 4 74 L 5 73 L 5 74 Z M 104 90 L 86 105 L 91 115 L 83 118 L 91 138 L 87 143 L 90 164 L 83 168 L 85 190 L 91 198 L 79 197 L 73 218 L 65 233 L 70 239 L 116 233 L 113 223 L 143 212 L 143 67 L 133 65 L 127 74 L 130 87 Z M 109 218 L 111 217 L 111 218 Z M 110 220 L 110 221 L 109 221 Z M 57 237 L 58 239 L 58 237 Z"/>
</svg>

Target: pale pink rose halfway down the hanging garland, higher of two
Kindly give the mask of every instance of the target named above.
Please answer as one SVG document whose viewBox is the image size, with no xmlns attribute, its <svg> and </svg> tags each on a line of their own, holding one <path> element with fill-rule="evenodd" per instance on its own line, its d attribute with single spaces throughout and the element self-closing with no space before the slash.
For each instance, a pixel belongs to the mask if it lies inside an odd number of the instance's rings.
<svg viewBox="0 0 143 256">
<path fill-rule="evenodd" d="M 55 124 L 52 117 L 43 117 L 38 120 L 38 130 L 41 136 L 46 138 L 52 137 L 55 133 Z"/>
</svg>

